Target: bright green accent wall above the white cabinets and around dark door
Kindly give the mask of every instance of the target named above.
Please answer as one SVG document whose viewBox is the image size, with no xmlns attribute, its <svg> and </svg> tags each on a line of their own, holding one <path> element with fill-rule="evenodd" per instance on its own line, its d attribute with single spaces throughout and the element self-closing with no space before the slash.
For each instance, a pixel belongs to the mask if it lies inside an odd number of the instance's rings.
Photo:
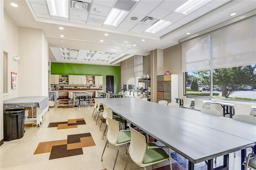
<svg viewBox="0 0 256 170">
<path fill-rule="evenodd" d="M 106 91 L 106 75 L 114 75 L 114 93 L 118 93 L 119 90 L 119 66 L 75 63 L 51 63 L 51 74 L 102 75 L 102 89 L 104 91 Z"/>
</svg>

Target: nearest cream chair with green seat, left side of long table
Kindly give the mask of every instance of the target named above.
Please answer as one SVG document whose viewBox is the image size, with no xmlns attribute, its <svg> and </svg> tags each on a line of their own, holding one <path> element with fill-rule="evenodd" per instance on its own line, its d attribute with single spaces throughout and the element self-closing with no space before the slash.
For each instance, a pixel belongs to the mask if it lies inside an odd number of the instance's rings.
<svg viewBox="0 0 256 170">
<path fill-rule="evenodd" d="M 131 142 L 128 149 L 129 157 L 124 170 L 126 170 L 130 158 L 135 164 L 141 168 L 144 168 L 144 170 L 146 170 L 146 166 L 152 165 L 152 169 L 154 169 L 153 164 L 169 160 L 170 169 L 172 170 L 170 148 L 159 147 L 154 143 L 146 143 L 145 136 L 131 127 L 130 132 Z M 168 149 L 168 152 L 166 152 L 163 148 Z"/>
</svg>

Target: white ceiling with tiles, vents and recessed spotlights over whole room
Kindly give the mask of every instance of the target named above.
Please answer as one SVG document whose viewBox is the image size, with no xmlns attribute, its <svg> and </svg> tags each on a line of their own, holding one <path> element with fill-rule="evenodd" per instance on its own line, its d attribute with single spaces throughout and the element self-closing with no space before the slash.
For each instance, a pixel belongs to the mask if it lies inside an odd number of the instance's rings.
<svg viewBox="0 0 256 170">
<path fill-rule="evenodd" d="M 10 6 L 11 2 L 18 7 Z M 177 8 L 185 2 L 69 0 L 68 18 L 50 15 L 46 0 L 4 0 L 4 10 L 18 26 L 43 30 L 52 62 L 118 65 L 133 55 L 148 55 L 154 49 L 176 45 L 189 36 L 186 33 L 194 35 L 255 10 L 256 5 L 249 0 L 204 0 L 198 9 L 181 13 Z M 113 8 L 126 13 L 117 26 L 104 24 Z M 168 26 L 154 33 L 146 31 L 160 20 L 168 22 Z"/>
</svg>

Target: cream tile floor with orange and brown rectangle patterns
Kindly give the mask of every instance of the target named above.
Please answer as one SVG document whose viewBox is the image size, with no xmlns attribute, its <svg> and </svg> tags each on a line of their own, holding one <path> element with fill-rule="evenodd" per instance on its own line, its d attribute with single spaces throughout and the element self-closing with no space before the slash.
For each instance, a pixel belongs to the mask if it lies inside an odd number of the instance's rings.
<svg viewBox="0 0 256 170">
<path fill-rule="evenodd" d="M 100 121 L 96 125 L 92 118 L 94 107 L 74 107 L 64 109 L 56 105 L 44 115 L 40 127 L 25 125 L 24 137 L 4 141 L 0 146 L 1 170 L 111 170 L 113 168 L 117 148 L 109 145 L 103 161 L 101 154 L 106 143 L 102 140 Z M 79 140 L 80 139 L 80 140 Z M 161 145 L 159 142 L 157 143 Z M 250 150 L 248 151 L 250 152 Z M 186 170 L 188 161 L 172 152 L 173 170 Z M 125 146 L 120 147 L 116 170 L 125 167 L 128 155 Z M 215 166 L 222 164 L 222 157 L 217 158 Z M 240 152 L 229 156 L 229 169 L 240 170 Z M 196 170 L 207 170 L 204 162 L 195 165 Z M 154 165 L 156 170 L 170 169 L 168 161 Z M 128 170 L 141 170 L 129 161 Z M 148 170 L 151 169 L 147 167 Z"/>
</svg>

